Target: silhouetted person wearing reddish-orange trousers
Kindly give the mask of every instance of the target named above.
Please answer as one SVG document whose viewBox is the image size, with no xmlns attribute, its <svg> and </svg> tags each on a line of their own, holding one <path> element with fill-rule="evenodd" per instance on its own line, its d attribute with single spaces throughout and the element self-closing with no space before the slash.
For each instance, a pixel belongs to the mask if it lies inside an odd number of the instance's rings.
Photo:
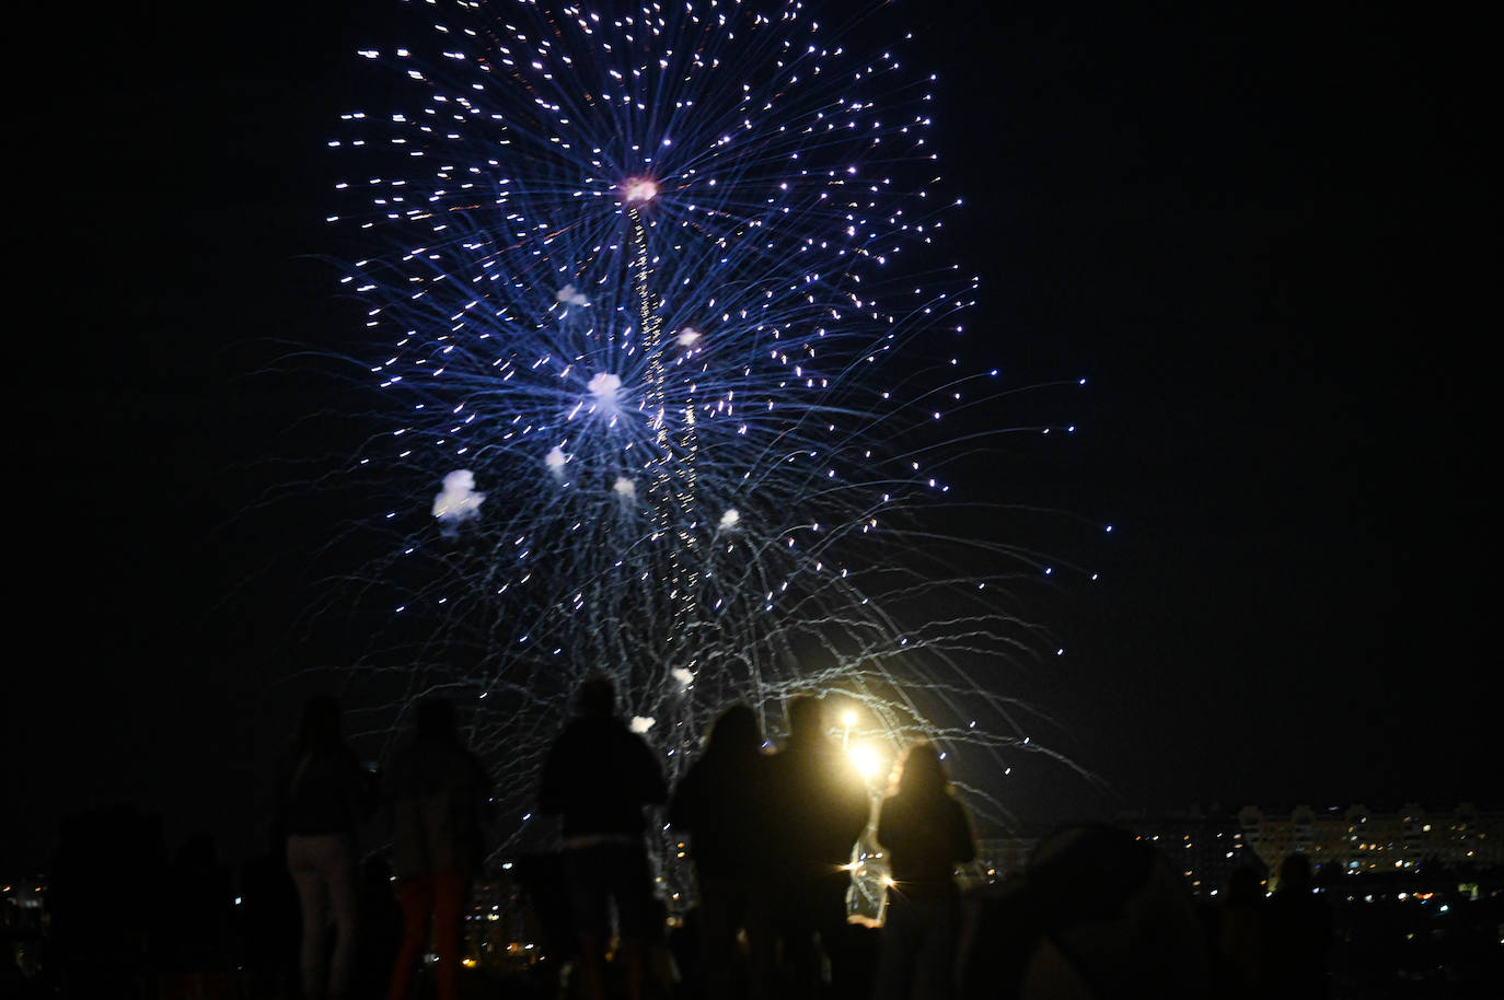
<svg viewBox="0 0 1504 1000">
<path fill-rule="evenodd" d="M 483 818 L 490 779 L 460 740 L 454 707 L 418 702 L 414 732 L 391 761 L 391 871 L 402 902 L 402 946 L 391 973 L 391 1000 L 403 1000 L 429 944 L 438 956 L 439 1000 L 456 1000 L 460 922 L 471 880 L 484 860 Z"/>
</svg>

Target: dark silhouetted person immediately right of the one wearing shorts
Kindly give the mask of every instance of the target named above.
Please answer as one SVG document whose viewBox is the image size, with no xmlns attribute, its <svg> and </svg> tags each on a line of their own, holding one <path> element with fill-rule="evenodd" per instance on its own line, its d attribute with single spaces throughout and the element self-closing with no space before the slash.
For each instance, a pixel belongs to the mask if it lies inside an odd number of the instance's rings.
<svg viewBox="0 0 1504 1000">
<path fill-rule="evenodd" d="M 749 943 L 766 928 L 749 922 L 754 890 L 767 878 L 769 758 L 757 716 L 732 705 L 716 719 L 699 759 L 689 768 L 668 821 L 689 833 L 689 854 L 699 884 L 698 925 L 705 994 L 725 1000 L 735 994 L 737 935 Z"/>
</svg>

